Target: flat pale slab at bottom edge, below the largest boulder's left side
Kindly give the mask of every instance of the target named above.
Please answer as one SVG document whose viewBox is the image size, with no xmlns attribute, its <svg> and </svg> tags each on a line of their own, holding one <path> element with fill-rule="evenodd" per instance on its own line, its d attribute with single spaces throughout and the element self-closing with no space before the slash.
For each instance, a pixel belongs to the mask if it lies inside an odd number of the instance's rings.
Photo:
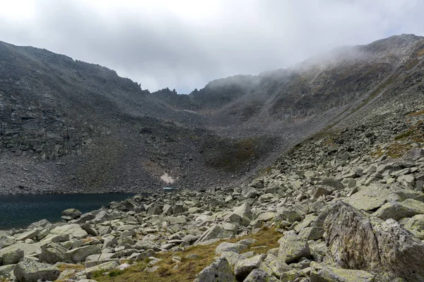
<svg viewBox="0 0 424 282">
<path fill-rule="evenodd" d="M 373 282 L 375 275 L 363 270 L 341 269 L 339 267 L 311 263 L 311 282 Z"/>
</svg>

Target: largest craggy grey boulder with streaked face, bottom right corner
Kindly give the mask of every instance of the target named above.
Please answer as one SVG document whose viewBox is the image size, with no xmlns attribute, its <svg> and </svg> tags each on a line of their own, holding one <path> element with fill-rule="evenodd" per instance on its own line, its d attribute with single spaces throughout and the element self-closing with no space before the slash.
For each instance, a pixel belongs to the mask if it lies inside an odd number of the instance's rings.
<svg viewBox="0 0 424 282">
<path fill-rule="evenodd" d="M 374 271 L 384 281 L 423 281 L 424 243 L 393 219 L 384 222 L 337 201 L 315 223 L 326 232 L 327 259 L 343 269 Z"/>
</svg>

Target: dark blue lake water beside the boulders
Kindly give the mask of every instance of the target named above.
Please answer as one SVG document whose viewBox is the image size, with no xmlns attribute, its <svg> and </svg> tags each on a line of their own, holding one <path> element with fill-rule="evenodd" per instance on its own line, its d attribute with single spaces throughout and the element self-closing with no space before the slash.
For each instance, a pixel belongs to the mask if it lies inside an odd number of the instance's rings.
<svg viewBox="0 0 424 282">
<path fill-rule="evenodd" d="M 47 219 L 60 221 L 64 209 L 75 208 L 90 212 L 134 194 L 67 194 L 67 195 L 0 195 L 0 230 L 23 228 L 30 223 Z"/>
</svg>

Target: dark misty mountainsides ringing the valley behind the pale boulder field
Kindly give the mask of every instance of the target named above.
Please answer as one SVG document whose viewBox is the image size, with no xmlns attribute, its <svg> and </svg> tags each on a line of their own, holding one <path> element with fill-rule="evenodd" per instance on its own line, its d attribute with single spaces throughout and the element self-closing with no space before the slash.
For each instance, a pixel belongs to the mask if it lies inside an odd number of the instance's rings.
<svg viewBox="0 0 424 282">
<path fill-rule="evenodd" d="M 177 95 L 1 42 L 0 193 L 235 185 L 329 125 L 420 109 L 423 59 L 401 35 Z"/>
</svg>

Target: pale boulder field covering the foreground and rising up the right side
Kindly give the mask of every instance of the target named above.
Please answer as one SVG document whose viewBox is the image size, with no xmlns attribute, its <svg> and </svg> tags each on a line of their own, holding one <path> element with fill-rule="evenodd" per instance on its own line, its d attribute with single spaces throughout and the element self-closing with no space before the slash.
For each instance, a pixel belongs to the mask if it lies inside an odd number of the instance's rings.
<svg viewBox="0 0 424 282">
<path fill-rule="evenodd" d="M 0 281 L 424 281 L 422 114 L 310 140 L 232 190 L 0 231 Z"/>
</svg>

